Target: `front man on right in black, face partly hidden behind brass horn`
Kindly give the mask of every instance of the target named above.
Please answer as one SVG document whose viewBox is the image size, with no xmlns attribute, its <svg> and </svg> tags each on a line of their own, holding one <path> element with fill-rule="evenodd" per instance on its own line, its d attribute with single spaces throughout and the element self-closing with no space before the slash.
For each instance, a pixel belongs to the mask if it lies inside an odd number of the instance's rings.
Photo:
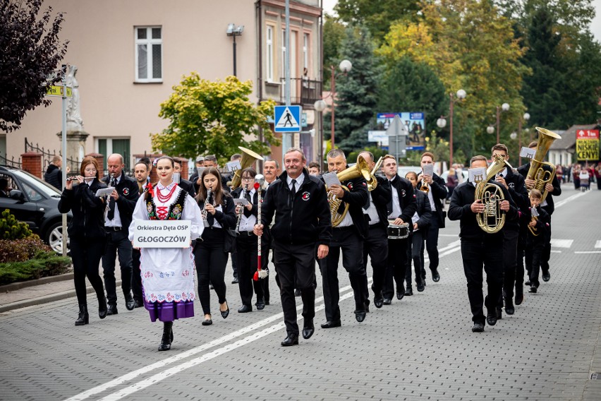
<svg viewBox="0 0 601 401">
<path fill-rule="evenodd" d="M 470 160 L 471 168 L 487 167 L 486 157 L 478 155 Z M 489 181 L 494 177 L 487 177 Z M 495 183 L 496 184 L 496 183 Z M 485 322 L 497 324 L 497 302 L 503 287 L 503 230 L 494 234 L 484 232 L 478 225 L 476 215 L 483 213 L 485 204 L 481 199 L 475 199 L 476 184 L 467 181 L 456 186 L 449 205 L 449 219 L 460 221 L 459 238 L 461 239 L 461 258 L 463 272 L 468 282 L 468 297 L 472 311 L 474 333 L 484 331 Z M 498 185 L 503 192 L 504 200 L 500 209 L 505 213 L 505 220 L 516 220 L 518 210 L 511 200 L 509 191 Z M 488 294 L 486 299 L 482 294 L 482 265 L 486 272 Z M 487 309 L 484 316 L 483 305 Z"/>
</svg>

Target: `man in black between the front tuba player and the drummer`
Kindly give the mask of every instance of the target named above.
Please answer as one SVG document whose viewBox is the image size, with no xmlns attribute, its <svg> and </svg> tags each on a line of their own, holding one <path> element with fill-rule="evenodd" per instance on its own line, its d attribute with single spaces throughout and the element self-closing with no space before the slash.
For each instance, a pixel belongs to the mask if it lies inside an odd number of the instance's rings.
<svg viewBox="0 0 601 401">
<path fill-rule="evenodd" d="M 360 152 L 370 170 L 375 167 L 374 155 L 372 152 Z M 377 186 L 369 192 L 369 201 L 363 205 L 363 213 L 369 220 L 369 234 L 363 241 L 363 265 L 365 270 L 368 268 L 368 255 L 372 261 L 373 269 L 373 284 L 372 291 L 374 292 L 374 305 L 376 308 L 382 308 L 384 296 L 382 295 L 382 286 L 384 285 L 384 277 L 386 275 L 386 265 L 388 260 L 388 212 L 387 205 L 392 201 L 390 184 L 387 179 L 382 176 L 375 176 Z M 367 285 L 367 281 L 365 282 Z M 369 305 L 369 291 L 365 288 L 365 304 Z"/>
</svg>

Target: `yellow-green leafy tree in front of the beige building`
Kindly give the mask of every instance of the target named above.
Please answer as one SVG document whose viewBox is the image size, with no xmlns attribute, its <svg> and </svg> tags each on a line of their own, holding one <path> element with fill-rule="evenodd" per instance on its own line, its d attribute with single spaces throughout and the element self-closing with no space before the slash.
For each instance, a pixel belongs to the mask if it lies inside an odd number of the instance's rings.
<svg viewBox="0 0 601 401">
<path fill-rule="evenodd" d="M 269 144 L 279 145 L 267 123 L 275 102 L 250 102 L 250 80 L 240 82 L 229 76 L 211 82 L 193 72 L 173 89 L 159 112 L 171 123 L 162 133 L 152 134 L 153 150 L 190 158 L 210 153 L 223 163 L 240 152 L 239 145 L 260 154 L 269 154 Z M 250 140 L 258 137 L 260 130 L 263 140 Z"/>
</svg>

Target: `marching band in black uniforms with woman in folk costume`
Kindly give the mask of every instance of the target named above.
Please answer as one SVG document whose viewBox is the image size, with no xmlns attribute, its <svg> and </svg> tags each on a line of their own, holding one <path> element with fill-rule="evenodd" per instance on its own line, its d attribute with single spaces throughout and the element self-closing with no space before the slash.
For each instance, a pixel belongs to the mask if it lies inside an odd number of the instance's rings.
<svg viewBox="0 0 601 401">
<path fill-rule="evenodd" d="M 554 166 L 542 160 L 544 148 L 548 150 L 557 134 L 537 129 L 539 140 L 530 144 L 537 152 L 528 164 L 514 169 L 506 145 L 494 145 L 492 164 L 485 156 L 472 157 L 470 179 L 457 185 L 450 198 L 449 220 L 460 222 L 473 332 L 495 325 L 502 319 L 503 308 L 508 315 L 514 314 L 515 306 L 523 301 L 524 284 L 530 286 L 530 293 L 538 292 L 541 271 L 542 280 L 550 280 L 553 196 L 561 194 L 561 188 Z M 229 253 L 237 262 L 238 312 L 248 313 L 253 311 L 253 296 L 257 310 L 269 305 L 272 251 L 271 271 L 279 287 L 286 325 L 286 338 L 281 342 L 285 347 L 298 345 L 301 334 L 309 339 L 315 333 L 316 263 L 322 277 L 324 329 L 342 325 L 341 256 L 353 289 L 358 323 L 370 312 L 368 256 L 377 309 L 390 305 L 395 292 L 399 301 L 413 295 L 411 263 L 418 292 L 424 291 L 424 251 L 430 260 L 432 280 L 439 281 L 437 244 L 447 217 L 447 186 L 432 171 L 432 153 L 423 153 L 421 171 L 399 176 L 394 156 L 385 155 L 375 162 L 371 152 L 363 151 L 349 167 L 344 152 L 334 149 L 327 154 L 327 173 L 320 175 L 319 164 L 313 163 L 312 170 L 308 169 L 303 151 L 290 148 L 284 155 L 284 172 L 280 174 L 276 161 L 267 160 L 262 175 L 251 167 L 262 157 L 245 148 L 241 151 L 240 165 L 228 181 L 231 188 L 223 185 L 217 162 L 211 157 L 205 157 L 205 162 L 213 164 L 199 170 L 200 175 L 192 181 L 174 176 L 181 170 L 179 160 L 159 157 L 154 161 L 159 172 L 157 183 L 149 179 L 150 160 L 137 162 L 130 178 L 122 172 L 121 155 L 109 157 L 114 171 L 103 181 L 114 191 L 101 201 L 106 205 L 104 229 L 110 233 L 107 241 L 112 251 L 102 258 L 106 300 L 100 294 L 100 283 L 96 285 L 101 318 L 117 313 L 116 289 L 111 285 L 117 252 L 127 309 L 145 306 L 152 321 L 164 322 L 161 351 L 171 348 L 174 320 L 194 315 L 194 271 L 198 273 L 198 298 L 204 313 L 202 325 L 213 323 L 210 288 L 217 293 L 222 318 L 229 316 L 224 281 Z M 80 181 L 78 184 L 83 185 Z M 63 203 L 67 204 L 72 192 L 71 184 L 63 191 Z M 179 219 L 192 222 L 189 249 L 133 247 L 135 220 Z M 123 244 L 123 239 L 128 244 Z M 487 276 L 486 295 L 482 292 L 483 272 Z M 303 301 L 302 333 L 295 294 Z M 75 325 L 87 324 L 83 296 L 79 302 L 80 316 Z"/>
</svg>

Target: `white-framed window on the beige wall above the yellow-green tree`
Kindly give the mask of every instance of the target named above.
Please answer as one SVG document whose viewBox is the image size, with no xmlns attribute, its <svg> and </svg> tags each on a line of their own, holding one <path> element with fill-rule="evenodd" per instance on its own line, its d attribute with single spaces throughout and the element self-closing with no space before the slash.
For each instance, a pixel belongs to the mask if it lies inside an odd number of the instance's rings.
<svg viewBox="0 0 601 401">
<path fill-rule="evenodd" d="M 163 81 L 163 39 L 161 27 L 135 28 L 135 81 Z"/>
</svg>

